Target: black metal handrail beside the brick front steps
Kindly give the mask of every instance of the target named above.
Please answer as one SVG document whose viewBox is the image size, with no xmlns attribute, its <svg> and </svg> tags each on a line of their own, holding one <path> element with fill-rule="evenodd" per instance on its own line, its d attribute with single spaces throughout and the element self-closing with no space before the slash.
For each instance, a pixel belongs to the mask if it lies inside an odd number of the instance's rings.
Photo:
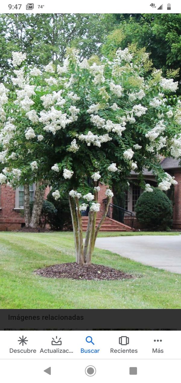
<svg viewBox="0 0 181 383">
<path fill-rule="evenodd" d="M 107 199 L 105 198 L 103 200 L 104 209 L 106 202 Z M 115 219 L 115 221 L 124 223 L 125 225 L 130 226 L 130 228 L 133 228 L 134 214 L 132 213 L 132 211 L 123 209 L 120 206 L 110 203 L 108 207 L 107 217 Z"/>
</svg>

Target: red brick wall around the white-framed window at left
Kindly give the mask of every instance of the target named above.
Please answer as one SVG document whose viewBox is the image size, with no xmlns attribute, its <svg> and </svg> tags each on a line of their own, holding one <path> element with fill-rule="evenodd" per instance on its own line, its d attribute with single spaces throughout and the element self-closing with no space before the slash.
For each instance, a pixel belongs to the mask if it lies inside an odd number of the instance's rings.
<svg viewBox="0 0 181 383">
<path fill-rule="evenodd" d="M 44 199 L 50 188 L 45 189 Z M 15 190 L 9 186 L 0 186 L 0 231 L 16 230 L 21 228 L 24 218 L 21 217 L 19 210 L 15 208 Z"/>
</svg>

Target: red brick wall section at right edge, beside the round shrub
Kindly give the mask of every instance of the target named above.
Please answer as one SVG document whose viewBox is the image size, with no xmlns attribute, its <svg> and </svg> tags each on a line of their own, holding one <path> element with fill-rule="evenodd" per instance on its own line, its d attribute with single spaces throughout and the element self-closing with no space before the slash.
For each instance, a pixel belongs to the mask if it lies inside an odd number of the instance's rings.
<svg viewBox="0 0 181 383">
<path fill-rule="evenodd" d="M 175 172 L 174 176 L 178 184 L 174 188 L 173 228 L 181 229 L 181 171 Z"/>
</svg>

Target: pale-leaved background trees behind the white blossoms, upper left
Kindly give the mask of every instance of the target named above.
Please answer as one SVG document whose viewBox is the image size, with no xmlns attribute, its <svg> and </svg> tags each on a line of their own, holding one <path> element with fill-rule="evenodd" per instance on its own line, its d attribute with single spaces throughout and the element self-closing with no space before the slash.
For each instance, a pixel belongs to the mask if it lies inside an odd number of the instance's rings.
<svg viewBox="0 0 181 383">
<path fill-rule="evenodd" d="M 107 33 L 117 23 L 113 14 L 48 13 L 0 15 L 0 81 L 11 74 L 12 51 L 26 52 L 27 63 L 62 63 L 66 47 L 79 47 L 81 59 L 99 54 Z"/>
</svg>

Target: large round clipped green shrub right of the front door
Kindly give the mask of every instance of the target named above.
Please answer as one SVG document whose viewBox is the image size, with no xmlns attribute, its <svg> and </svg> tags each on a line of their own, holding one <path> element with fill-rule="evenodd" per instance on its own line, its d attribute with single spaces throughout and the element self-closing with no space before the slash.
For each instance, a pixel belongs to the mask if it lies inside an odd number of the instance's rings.
<svg viewBox="0 0 181 383">
<path fill-rule="evenodd" d="M 142 193 L 136 202 L 135 211 L 136 218 L 145 229 L 166 230 L 172 225 L 172 203 L 158 188 Z"/>
</svg>

